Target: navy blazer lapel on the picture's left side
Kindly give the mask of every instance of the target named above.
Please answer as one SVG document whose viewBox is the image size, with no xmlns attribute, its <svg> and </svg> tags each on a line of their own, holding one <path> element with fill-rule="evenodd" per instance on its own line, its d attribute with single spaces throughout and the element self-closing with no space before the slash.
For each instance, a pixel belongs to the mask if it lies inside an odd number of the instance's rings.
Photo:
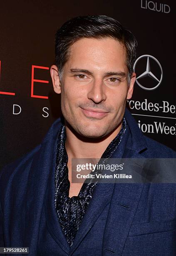
<svg viewBox="0 0 176 256">
<path fill-rule="evenodd" d="M 56 137 L 61 123 L 57 120 L 50 128 L 47 136 L 41 144 L 40 150 L 35 155 L 28 176 L 26 198 L 26 223 L 24 232 L 24 244 L 30 247 L 30 255 L 35 255 L 37 237 L 40 228 L 40 218 L 44 203 L 47 182 L 54 164 L 54 150 Z"/>
</svg>

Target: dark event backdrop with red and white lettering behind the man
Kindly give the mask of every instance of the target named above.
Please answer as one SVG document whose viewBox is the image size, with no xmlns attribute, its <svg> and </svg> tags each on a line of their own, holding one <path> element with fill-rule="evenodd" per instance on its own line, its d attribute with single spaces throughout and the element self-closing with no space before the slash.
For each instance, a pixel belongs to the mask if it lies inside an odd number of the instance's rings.
<svg viewBox="0 0 176 256">
<path fill-rule="evenodd" d="M 69 18 L 108 15 L 137 38 L 134 95 L 141 131 L 176 150 L 174 2 L 18 0 L 0 3 L 0 167 L 42 141 L 59 118 L 52 89 L 55 32 Z"/>
</svg>

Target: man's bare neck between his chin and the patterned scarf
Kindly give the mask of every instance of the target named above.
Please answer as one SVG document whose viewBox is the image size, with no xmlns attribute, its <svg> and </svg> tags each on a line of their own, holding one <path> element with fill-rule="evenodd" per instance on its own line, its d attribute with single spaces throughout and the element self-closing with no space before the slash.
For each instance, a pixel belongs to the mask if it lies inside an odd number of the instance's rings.
<svg viewBox="0 0 176 256">
<path fill-rule="evenodd" d="M 96 158 L 100 159 L 107 146 L 121 130 L 122 122 L 111 133 L 103 138 L 87 138 L 80 136 L 65 122 L 66 151 L 68 160 L 72 158 Z"/>
</svg>

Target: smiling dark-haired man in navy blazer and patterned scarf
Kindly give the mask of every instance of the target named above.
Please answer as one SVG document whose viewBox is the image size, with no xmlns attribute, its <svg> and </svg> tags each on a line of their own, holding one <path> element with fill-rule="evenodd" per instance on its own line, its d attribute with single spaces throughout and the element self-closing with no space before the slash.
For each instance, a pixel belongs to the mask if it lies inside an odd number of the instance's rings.
<svg viewBox="0 0 176 256">
<path fill-rule="evenodd" d="M 136 39 L 104 15 L 57 31 L 51 77 L 63 118 L 0 178 L 1 246 L 30 255 L 174 255 L 175 184 L 72 183 L 76 158 L 174 158 L 126 107 Z"/>
</svg>

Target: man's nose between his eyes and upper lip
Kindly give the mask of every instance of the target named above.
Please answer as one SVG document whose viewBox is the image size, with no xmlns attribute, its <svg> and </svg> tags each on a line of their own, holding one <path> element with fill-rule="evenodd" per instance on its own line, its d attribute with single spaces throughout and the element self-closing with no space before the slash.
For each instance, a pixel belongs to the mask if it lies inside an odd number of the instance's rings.
<svg viewBox="0 0 176 256">
<path fill-rule="evenodd" d="M 89 100 L 93 100 L 95 103 L 100 103 L 106 100 L 105 86 L 101 79 L 95 79 L 91 84 L 91 88 L 87 94 Z"/>
</svg>

